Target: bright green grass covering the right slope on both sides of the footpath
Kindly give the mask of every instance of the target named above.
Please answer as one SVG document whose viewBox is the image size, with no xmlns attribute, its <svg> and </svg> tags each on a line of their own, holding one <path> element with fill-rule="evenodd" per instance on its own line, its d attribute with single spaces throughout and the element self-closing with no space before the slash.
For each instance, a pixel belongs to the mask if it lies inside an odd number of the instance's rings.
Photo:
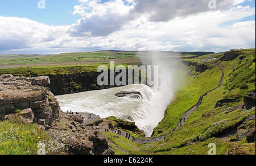
<svg viewBox="0 0 256 166">
<path fill-rule="evenodd" d="M 243 60 L 240 60 L 239 57 L 228 62 L 220 62 L 216 60 L 218 63 L 220 63 L 225 73 L 224 84 L 221 86 L 221 88 L 214 90 L 204 98 L 202 105 L 199 106 L 199 109 L 191 114 L 191 116 L 184 123 L 184 126 L 178 128 L 173 134 L 168 135 L 166 140 L 150 144 L 150 147 L 144 148 L 143 151 L 160 154 L 207 154 L 207 151 L 209 150 L 207 145 L 209 142 L 217 144 L 219 147 L 219 150 L 217 151 L 218 154 L 225 154 L 227 151 L 231 150 L 235 146 L 234 143 L 223 142 L 223 140 L 215 138 L 214 135 L 224 130 L 228 130 L 229 128 L 233 128 L 238 123 L 242 122 L 244 118 L 255 114 L 255 109 L 251 112 L 240 110 L 235 110 L 228 114 L 225 112 L 229 107 L 236 106 L 243 102 L 242 97 L 248 92 L 255 90 L 255 82 L 249 81 L 250 76 L 253 74 L 255 76 L 255 68 L 253 70 L 250 69 L 255 67 L 255 61 L 253 62 L 253 59 L 255 59 L 255 49 L 254 53 L 246 53 L 247 52 L 243 54 L 245 55 Z M 236 67 L 236 72 L 234 72 L 233 67 Z M 215 87 L 213 84 L 209 85 L 207 83 L 207 81 L 210 79 L 207 76 L 209 73 L 212 74 L 211 77 L 215 78 L 217 78 L 217 75 L 220 75 L 216 72 L 214 73 L 214 70 L 215 69 L 211 69 L 205 71 L 204 73 L 199 73 L 194 80 L 188 80 L 188 84 L 191 85 L 191 87 L 186 89 L 186 86 L 184 86 L 184 89 L 181 90 L 181 92 L 177 95 L 178 97 L 176 101 L 172 103 L 170 107 L 168 107 L 163 121 L 158 127 L 156 127 L 156 130 L 172 130 L 174 127 L 171 125 L 172 121 L 175 121 L 176 119 L 176 123 L 174 124 L 177 124 L 177 118 L 179 117 L 177 115 L 180 114 L 182 116 L 184 105 L 187 105 L 187 102 L 192 100 L 189 98 L 192 96 L 192 92 L 190 91 L 191 89 L 195 89 L 196 87 L 201 87 L 201 89 L 203 89 L 203 86 L 205 86 L 204 88 L 209 88 L 210 86 Z M 238 84 L 239 82 L 235 82 L 234 80 L 240 80 L 241 77 L 243 81 L 247 82 L 246 84 L 248 85 L 248 88 L 244 89 L 237 86 L 236 88 L 229 90 L 233 84 Z M 219 81 L 219 79 L 217 80 Z M 197 84 L 199 84 L 199 86 L 197 86 Z M 179 96 L 181 97 L 179 98 Z M 237 100 L 224 107 L 219 107 L 217 109 L 214 107 L 218 100 L 228 97 L 235 97 Z M 185 104 L 177 105 L 179 102 Z M 179 111 L 181 111 L 181 113 L 179 113 Z M 171 128 L 168 129 L 168 126 Z M 201 142 L 198 140 L 201 140 Z M 240 143 L 241 146 L 247 144 L 244 140 Z M 251 147 L 255 147 L 255 144 L 247 144 L 247 147 L 248 146 L 251 151 Z"/>
</svg>

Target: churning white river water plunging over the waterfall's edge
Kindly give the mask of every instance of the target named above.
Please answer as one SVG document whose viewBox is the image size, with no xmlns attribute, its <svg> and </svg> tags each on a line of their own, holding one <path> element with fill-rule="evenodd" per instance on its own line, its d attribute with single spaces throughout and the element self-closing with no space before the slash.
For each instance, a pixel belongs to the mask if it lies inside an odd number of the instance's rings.
<svg viewBox="0 0 256 166">
<path fill-rule="evenodd" d="M 141 92 L 143 98 L 131 98 L 134 94 L 125 97 L 116 97 L 114 94 L 126 92 Z M 142 84 L 122 86 L 118 88 L 94 90 L 76 94 L 56 96 L 60 102 L 61 110 L 86 112 L 100 115 L 101 118 L 115 116 L 125 121 L 135 122 L 138 128 L 150 136 L 154 127 L 161 121 L 163 115 L 159 115 L 159 108 L 152 105 L 154 92 Z M 161 99 L 161 98 L 158 98 Z M 152 109 L 153 108 L 153 109 Z M 155 109 L 154 109 L 155 108 Z M 166 109 L 163 108 L 164 110 Z M 153 119 L 152 119 L 153 118 Z M 159 119 L 156 121 L 156 119 Z"/>
</svg>

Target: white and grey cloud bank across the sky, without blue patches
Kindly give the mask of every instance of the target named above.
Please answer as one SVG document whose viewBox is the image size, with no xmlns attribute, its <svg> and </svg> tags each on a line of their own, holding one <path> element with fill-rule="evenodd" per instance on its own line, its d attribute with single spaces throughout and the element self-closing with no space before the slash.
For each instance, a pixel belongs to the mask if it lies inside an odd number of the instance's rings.
<svg viewBox="0 0 256 166">
<path fill-rule="evenodd" d="M 152 20 L 152 15 L 147 14 L 150 7 L 137 17 L 131 15 L 136 8 L 131 3 L 139 0 L 80 2 L 73 14 L 80 14 L 81 19 L 70 26 L 48 26 L 26 18 L 0 16 L 0 53 L 100 49 L 225 51 L 255 47 L 255 20 L 241 21 L 254 15 L 255 9 L 237 5 L 242 1 L 232 1 L 237 6 L 221 10 L 180 14 L 174 18 L 165 16 L 164 22 Z"/>
</svg>

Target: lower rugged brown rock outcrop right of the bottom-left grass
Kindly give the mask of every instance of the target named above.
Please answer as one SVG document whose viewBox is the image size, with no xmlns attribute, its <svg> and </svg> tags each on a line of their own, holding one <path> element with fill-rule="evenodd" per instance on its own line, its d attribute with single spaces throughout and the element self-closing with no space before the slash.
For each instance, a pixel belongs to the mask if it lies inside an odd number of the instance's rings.
<svg viewBox="0 0 256 166">
<path fill-rule="evenodd" d="M 77 115 L 79 117 L 79 115 Z M 77 116 L 60 111 L 60 117 L 53 121 L 47 133 L 65 144 L 65 154 L 69 155 L 114 155 L 108 139 L 100 130 L 76 122 Z M 84 117 L 84 115 L 82 116 Z M 74 119 L 75 118 L 75 119 Z"/>
</svg>

